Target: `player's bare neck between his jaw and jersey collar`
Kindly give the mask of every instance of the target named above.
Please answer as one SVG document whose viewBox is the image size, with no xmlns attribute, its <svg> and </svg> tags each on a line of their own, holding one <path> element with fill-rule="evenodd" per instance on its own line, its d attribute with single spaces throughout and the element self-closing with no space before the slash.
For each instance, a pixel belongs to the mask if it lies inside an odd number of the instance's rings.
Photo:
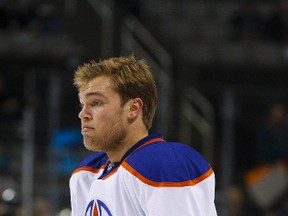
<svg viewBox="0 0 288 216">
<path fill-rule="evenodd" d="M 133 134 L 133 133 L 130 133 Z M 108 155 L 108 158 L 110 162 L 112 163 L 117 163 L 120 162 L 125 153 L 133 146 L 135 145 L 138 141 L 143 139 L 144 137 L 148 136 L 148 131 L 138 133 L 138 134 L 133 134 L 131 137 L 126 137 L 121 141 L 121 143 L 118 145 L 120 146 L 119 149 L 115 151 L 110 151 L 106 152 Z"/>
</svg>

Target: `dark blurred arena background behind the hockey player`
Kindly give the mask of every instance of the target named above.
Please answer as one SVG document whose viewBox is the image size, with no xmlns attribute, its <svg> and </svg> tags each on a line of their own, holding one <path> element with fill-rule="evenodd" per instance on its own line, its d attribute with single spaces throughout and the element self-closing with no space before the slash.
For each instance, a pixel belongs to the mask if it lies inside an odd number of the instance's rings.
<svg viewBox="0 0 288 216">
<path fill-rule="evenodd" d="M 0 0 L 0 216 L 70 215 L 73 71 L 151 65 L 151 132 L 200 151 L 220 216 L 288 215 L 287 0 Z"/>
</svg>

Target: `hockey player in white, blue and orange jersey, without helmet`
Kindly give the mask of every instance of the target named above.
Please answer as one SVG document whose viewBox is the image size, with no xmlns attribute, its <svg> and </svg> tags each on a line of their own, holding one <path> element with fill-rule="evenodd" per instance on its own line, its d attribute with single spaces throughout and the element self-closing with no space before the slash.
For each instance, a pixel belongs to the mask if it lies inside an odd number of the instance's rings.
<svg viewBox="0 0 288 216">
<path fill-rule="evenodd" d="M 193 148 L 149 134 L 155 82 L 134 56 L 91 61 L 74 74 L 84 145 L 70 179 L 72 216 L 215 216 L 215 176 Z"/>
</svg>

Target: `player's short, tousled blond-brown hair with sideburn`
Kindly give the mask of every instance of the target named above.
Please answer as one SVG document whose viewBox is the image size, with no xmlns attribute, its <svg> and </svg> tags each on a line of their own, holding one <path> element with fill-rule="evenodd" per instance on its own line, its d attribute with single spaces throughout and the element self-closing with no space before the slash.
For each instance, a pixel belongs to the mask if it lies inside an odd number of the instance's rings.
<svg viewBox="0 0 288 216">
<path fill-rule="evenodd" d="M 90 61 L 77 68 L 74 73 L 74 85 L 79 91 L 98 76 L 112 78 L 123 105 L 129 99 L 141 98 L 143 123 L 147 129 L 152 127 L 157 107 L 157 90 L 150 68 L 143 59 L 136 60 L 134 56 L 128 56 L 113 57 L 99 62 Z"/>
</svg>

